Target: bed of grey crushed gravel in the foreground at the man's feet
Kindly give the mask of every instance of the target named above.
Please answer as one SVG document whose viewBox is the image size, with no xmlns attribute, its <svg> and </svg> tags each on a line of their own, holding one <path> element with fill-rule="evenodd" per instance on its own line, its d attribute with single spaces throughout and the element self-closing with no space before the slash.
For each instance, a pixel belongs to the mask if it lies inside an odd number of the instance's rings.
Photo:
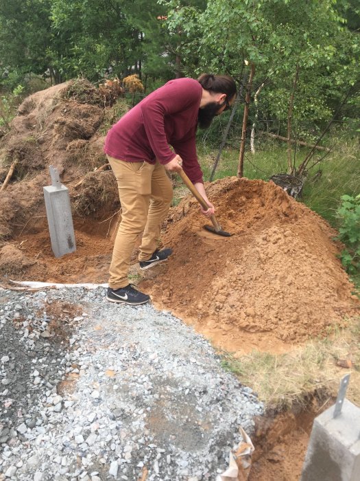
<svg viewBox="0 0 360 481">
<path fill-rule="evenodd" d="M 0 304 L 0 480 L 215 480 L 263 413 L 167 311 L 104 288 Z"/>
</svg>

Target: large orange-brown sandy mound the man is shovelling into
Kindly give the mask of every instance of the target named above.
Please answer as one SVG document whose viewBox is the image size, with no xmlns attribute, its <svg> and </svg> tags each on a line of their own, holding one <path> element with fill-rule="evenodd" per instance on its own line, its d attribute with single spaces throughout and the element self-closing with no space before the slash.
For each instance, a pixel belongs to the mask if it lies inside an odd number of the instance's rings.
<svg viewBox="0 0 360 481">
<path fill-rule="evenodd" d="M 184 199 L 163 236 L 174 254 L 141 285 L 160 306 L 228 350 L 280 348 L 355 313 L 336 232 L 320 216 L 272 182 L 231 177 L 207 192 L 233 235 L 203 230 L 197 204 Z"/>
</svg>

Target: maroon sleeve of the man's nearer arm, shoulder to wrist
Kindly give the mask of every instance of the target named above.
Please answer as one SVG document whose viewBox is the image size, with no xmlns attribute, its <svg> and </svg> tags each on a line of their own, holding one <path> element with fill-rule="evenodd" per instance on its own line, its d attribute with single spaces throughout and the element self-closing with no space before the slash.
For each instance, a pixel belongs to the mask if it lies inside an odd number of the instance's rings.
<svg viewBox="0 0 360 481">
<path fill-rule="evenodd" d="M 176 114 L 199 101 L 199 93 L 184 82 L 176 85 L 169 82 L 152 93 L 141 105 L 141 115 L 149 144 L 160 164 L 167 164 L 176 154 L 169 148 L 165 133 L 165 115 Z M 195 144 L 194 144 L 195 146 Z M 175 146 L 173 146 L 175 148 Z M 180 155 L 180 152 L 177 152 Z M 195 153 L 196 157 L 196 153 Z"/>
</svg>

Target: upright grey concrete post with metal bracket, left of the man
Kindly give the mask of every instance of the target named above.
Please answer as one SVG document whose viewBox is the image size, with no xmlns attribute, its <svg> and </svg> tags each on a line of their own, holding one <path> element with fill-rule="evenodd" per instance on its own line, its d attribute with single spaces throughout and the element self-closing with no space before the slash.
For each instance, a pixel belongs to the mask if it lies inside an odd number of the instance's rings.
<svg viewBox="0 0 360 481">
<path fill-rule="evenodd" d="M 51 186 L 43 187 L 51 247 L 55 257 L 76 250 L 69 190 L 60 183 L 58 172 L 50 166 Z"/>
</svg>

